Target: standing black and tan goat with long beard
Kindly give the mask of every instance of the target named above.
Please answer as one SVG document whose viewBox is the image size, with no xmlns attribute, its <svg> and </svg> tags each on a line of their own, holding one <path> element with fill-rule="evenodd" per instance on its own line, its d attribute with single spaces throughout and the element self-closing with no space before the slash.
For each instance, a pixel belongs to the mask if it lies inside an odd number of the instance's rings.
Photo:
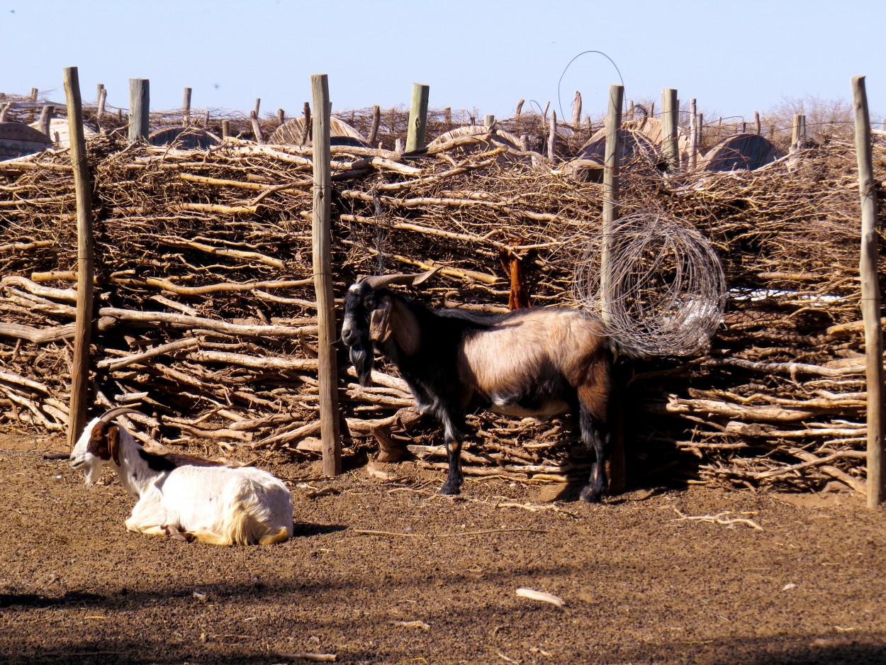
<svg viewBox="0 0 886 665">
<path fill-rule="evenodd" d="M 470 405 L 539 419 L 578 411 L 582 442 L 595 451 L 581 497 L 599 501 L 610 453 L 613 359 L 599 322 L 566 308 L 508 314 L 430 309 L 387 288 L 415 286 L 435 271 L 361 278 L 348 289 L 341 338 L 361 385 L 371 383 L 375 342 L 406 380 L 419 409 L 444 428 L 449 473 L 441 494 L 458 494 L 462 485 L 460 455 Z"/>
</svg>

